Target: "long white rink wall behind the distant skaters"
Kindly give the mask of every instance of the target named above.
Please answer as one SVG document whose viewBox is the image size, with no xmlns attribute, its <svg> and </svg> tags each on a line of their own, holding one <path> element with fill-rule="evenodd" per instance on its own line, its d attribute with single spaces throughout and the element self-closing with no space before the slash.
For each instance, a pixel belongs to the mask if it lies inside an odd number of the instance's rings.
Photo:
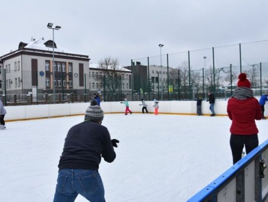
<svg viewBox="0 0 268 202">
<path fill-rule="evenodd" d="M 130 101 L 130 109 L 133 112 L 141 112 L 142 106 L 140 101 Z M 153 101 L 146 101 L 148 112 L 153 113 Z M 196 101 L 159 101 L 159 113 L 174 113 L 174 114 L 193 114 L 197 112 Z M 5 115 L 8 120 L 25 120 L 33 118 L 46 118 L 57 116 L 69 116 L 77 114 L 85 114 L 87 103 L 66 103 L 66 104 L 45 104 L 45 105 L 24 105 L 24 106 L 6 106 Z M 227 100 L 217 101 L 214 105 L 216 115 L 227 115 L 226 112 Z M 104 113 L 124 113 L 125 104 L 120 102 L 101 102 L 101 108 Z M 209 115 L 209 103 L 202 101 L 202 113 Z M 268 116 L 266 107 L 265 116 Z"/>
</svg>

